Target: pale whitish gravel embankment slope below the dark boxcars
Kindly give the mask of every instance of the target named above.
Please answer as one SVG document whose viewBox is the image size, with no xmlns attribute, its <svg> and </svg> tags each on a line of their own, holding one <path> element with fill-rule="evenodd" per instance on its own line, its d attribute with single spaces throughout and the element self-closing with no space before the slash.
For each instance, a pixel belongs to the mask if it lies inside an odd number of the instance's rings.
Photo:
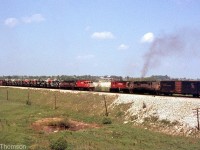
<svg viewBox="0 0 200 150">
<path fill-rule="evenodd" d="M 194 109 L 200 108 L 199 98 L 119 94 L 110 108 L 123 104 L 129 104 L 124 123 L 173 135 L 198 134 Z"/>
</svg>

